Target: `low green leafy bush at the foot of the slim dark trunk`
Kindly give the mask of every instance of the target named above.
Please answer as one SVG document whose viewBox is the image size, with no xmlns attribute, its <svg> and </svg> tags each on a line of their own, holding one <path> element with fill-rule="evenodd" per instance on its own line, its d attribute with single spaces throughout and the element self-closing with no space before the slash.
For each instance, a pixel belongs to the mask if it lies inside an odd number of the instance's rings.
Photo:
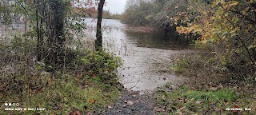
<svg viewBox="0 0 256 115">
<path fill-rule="evenodd" d="M 90 77 L 99 78 L 100 81 L 113 84 L 117 82 L 116 70 L 122 65 L 120 57 L 113 57 L 104 51 L 90 52 L 78 56 L 75 69 L 86 72 Z"/>
</svg>

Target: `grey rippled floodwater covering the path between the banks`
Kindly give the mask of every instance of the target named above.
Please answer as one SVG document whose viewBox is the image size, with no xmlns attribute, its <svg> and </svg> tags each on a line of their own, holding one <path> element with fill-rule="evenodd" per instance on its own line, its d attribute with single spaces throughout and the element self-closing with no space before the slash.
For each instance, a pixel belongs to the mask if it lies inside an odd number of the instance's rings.
<svg viewBox="0 0 256 115">
<path fill-rule="evenodd" d="M 96 20 L 86 18 L 87 38 L 95 37 Z M 122 57 L 118 69 L 119 81 L 126 89 L 153 91 L 167 82 L 177 83 L 182 77 L 169 72 L 177 54 L 190 53 L 188 42 L 176 36 L 165 38 L 162 34 L 131 32 L 118 20 L 103 19 L 103 47 Z M 91 30 L 92 29 L 92 30 Z"/>
</svg>

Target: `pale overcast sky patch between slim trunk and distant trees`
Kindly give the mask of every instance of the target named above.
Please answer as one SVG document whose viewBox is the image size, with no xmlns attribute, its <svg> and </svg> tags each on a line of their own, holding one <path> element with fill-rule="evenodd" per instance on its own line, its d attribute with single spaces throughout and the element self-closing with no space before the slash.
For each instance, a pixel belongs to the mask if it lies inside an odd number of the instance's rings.
<svg viewBox="0 0 256 115">
<path fill-rule="evenodd" d="M 113 14 L 122 14 L 125 10 L 127 0 L 106 0 L 103 10 L 110 10 Z"/>
</svg>

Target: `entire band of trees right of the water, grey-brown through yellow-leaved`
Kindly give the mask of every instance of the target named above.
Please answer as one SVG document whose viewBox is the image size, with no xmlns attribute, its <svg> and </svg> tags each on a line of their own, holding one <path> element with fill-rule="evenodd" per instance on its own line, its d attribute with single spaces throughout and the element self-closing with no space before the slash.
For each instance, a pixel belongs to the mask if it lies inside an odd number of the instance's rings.
<svg viewBox="0 0 256 115">
<path fill-rule="evenodd" d="M 122 22 L 198 34 L 209 61 L 233 77 L 255 77 L 255 0 L 129 0 Z"/>
</svg>

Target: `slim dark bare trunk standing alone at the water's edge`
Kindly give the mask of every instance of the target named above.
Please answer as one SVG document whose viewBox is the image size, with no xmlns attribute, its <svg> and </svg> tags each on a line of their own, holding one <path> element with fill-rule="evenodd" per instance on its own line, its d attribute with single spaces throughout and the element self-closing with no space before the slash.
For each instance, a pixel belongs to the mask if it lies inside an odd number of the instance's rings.
<svg viewBox="0 0 256 115">
<path fill-rule="evenodd" d="M 100 0 L 98 4 L 98 20 L 97 20 L 97 32 L 95 40 L 95 50 L 102 50 L 102 10 L 105 0 Z"/>
</svg>

